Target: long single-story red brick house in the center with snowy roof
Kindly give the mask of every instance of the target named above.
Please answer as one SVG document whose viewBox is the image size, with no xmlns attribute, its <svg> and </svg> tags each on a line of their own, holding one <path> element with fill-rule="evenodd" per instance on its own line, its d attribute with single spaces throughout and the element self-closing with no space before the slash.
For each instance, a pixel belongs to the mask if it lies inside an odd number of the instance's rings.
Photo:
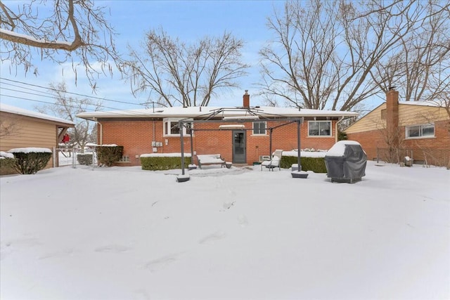
<svg viewBox="0 0 450 300">
<path fill-rule="evenodd" d="M 98 144 L 124 146 L 120 164 L 139 165 L 140 155 L 181 152 L 179 120 L 193 123 L 193 154 L 220 154 L 227 162 L 252 164 L 275 149 L 297 149 L 297 122 L 302 118 L 301 148 L 328 150 L 338 141 L 338 122 L 356 112 L 298 110 L 286 107 L 158 107 L 77 115 L 97 122 Z M 191 131 L 183 129 L 184 152 L 191 153 Z"/>
</svg>

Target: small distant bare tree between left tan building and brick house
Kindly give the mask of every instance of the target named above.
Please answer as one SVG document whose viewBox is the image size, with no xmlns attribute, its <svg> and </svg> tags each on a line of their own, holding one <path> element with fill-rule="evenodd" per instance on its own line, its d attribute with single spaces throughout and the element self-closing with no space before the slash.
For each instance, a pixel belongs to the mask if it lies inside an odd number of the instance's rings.
<svg viewBox="0 0 450 300">
<path fill-rule="evenodd" d="M 55 94 L 55 103 L 36 107 L 39 112 L 53 114 L 56 117 L 68 119 L 75 123 L 75 128 L 68 129 L 70 140 L 73 145 L 79 145 L 84 150 L 86 143 L 90 141 L 91 131 L 95 124 L 86 119 L 75 117 L 79 112 L 97 111 L 101 108 L 101 100 L 91 100 L 88 98 L 77 99 L 67 95 L 67 88 L 64 82 L 50 84 L 49 91 Z"/>
</svg>

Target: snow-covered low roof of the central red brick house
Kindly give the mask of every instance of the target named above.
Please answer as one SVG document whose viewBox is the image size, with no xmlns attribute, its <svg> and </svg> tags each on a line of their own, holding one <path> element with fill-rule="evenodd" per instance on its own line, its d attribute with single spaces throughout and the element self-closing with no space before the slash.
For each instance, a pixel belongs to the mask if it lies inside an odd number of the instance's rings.
<svg viewBox="0 0 450 300">
<path fill-rule="evenodd" d="M 250 114 L 257 114 L 264 117 L 356 117 L 357 112 L 343 112 L 338 110 L 308 110 L 290 107 L 158 107 L 139 110 L 115 110 L 108 112 L 81 112 L 77 117 L 83 119 L 96 118 L 141 118 L 141 117 L 201 117 L 214 115 L 221 117 L 245 117 Z"/>
</svg>

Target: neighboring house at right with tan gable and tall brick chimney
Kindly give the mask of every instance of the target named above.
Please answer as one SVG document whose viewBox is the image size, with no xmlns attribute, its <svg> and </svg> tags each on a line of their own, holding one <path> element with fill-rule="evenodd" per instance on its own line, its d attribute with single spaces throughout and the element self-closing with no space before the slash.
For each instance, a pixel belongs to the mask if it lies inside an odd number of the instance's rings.
<svg viewBox="0 0 450 300">
<path fill-rule="evenodd" d="M 449 166 L 450 116 L 446 103 L 401 101 L 391 89 L 386 102 L 345 129 L 349 140 L 358 141 L 368 159 Z M 450 166 L 449 166 L 450 167 Z"/>
</svg>

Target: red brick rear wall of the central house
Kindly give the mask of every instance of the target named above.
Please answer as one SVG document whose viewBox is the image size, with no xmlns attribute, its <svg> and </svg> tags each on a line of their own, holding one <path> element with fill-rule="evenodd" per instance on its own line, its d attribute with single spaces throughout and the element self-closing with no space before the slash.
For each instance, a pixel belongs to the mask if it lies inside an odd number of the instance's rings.
<svg viewBox="0 0 450 300">
<path fill-rule="evenodd" d="M 155 138 L 153 139 L 153 123 L 155 124 Z M 103 121 L 103 144 L 116 144 L 124 146 L 124 155 L 129 156 L 129 163 L 120 165 L 139 165 L 140 159 L 136 155 L 153 153 L 152 141 L 162 142 L 157 147 L 157 153 L 180 152 L 179 137 L 162 136 L 162 121 Z M 243 123 L 246 129 L 252 129 L 252 122 Z M 285 122 L 269 122 L 267 127 L 285 124 Z M 219 123 L 195 123 L 193 136 L 193 150 L 198 154 L 221 154 L 226 161 L 233 158 L 232 131 L 219 131 Z M 214 131 L 201 131 L 201 129 L 214 129 Z M 335 143 L 335 121 L 332 122 L 331 137 L 309 137 L 308 124 L 301 126 L 300 148 L 315 148 L 328 150 Z M 269 131 L 267 136 L 253 136 L 252 130 L 246 131 L 247 163 L 257 162 L 259 155 L 269 155 Z M 98 129 L 100 140 L 100 128 Z M 167 145 L 166 145 L 167 141 Z M 274 129 L 272 134 L 272 151 L 276 149 L 297 149 L 297 123 L 288 124 Z M 190 136 L 184 137 L 184 152 L 191 152 Z M 196 163 L 196 162 L 195 162 Z"/>
</svg>

